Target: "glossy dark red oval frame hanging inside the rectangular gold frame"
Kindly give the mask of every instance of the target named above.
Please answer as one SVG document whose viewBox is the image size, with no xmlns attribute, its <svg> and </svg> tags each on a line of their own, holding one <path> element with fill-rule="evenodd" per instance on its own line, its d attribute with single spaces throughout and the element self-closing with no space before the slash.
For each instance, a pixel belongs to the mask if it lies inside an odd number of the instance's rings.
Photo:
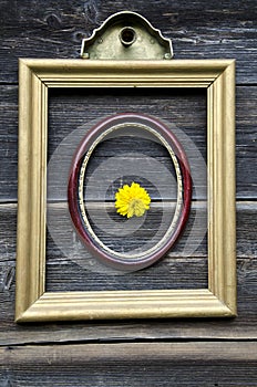
<svg viewBox="0 0 257 387">
<path fill-rule="evenodd" d="M 154 125 L 154 129 L 168 143 L 174 154 L 177 157 L 181 174 L 182 174 L 182 187 L 183 187 L 183 206 L 182 211 L 179 213 L 179 218 L 173 232 L 172 237 L 167 239 L 167 242 L 162 245 L 156 252 L 142 258 L 141 260 L 133 259 L 119 259 L 106 251 L 103 251 L 99 248 L 99 245 L 94 242 L 86 228 L 83 226 L 82 217 L 80 215 L 79 209 L 79 200 L 78 200 L 78 188 L 79 188 L 79 176 L 81 165 L 83 163 L 84 156 L 94 140 L 104 133 L 111 125 L 117 125 L 124 119 L 133 119 L 135 122 L 143 122 L 144 124 Z M 192 178 L 189 172 L 189 165 L 185 155 L 185 151 L 179 144 L 176 136 L 168 129 L 163 123 L 157 119 L 136 113 L 123 113 L 116 114 L 114 116 L 107 117 L 100 122 L 97 125 L 93 126 L 88 134 L 82 139 L 76 153 L 74 155 L 72 167 L 69 177 L 68 184 L 68 203 L 69 211 L 71 215 L 72 222 L 76 232 L 79 233 L 81 240 L 86 245 L 89 251 L 100 259 L 100 261 L 104 264 L 111 265 L 114 269 L 124 270 L 124 271 L 136 271 L 144 269 L 154 262 L 158 261 L 176 242 L 179 237 L 182 230 L 185 227 L 185 223 L 188 219 L 189 210 L 191 210 L 191 199 L 192 199 Z"/>
</svg>

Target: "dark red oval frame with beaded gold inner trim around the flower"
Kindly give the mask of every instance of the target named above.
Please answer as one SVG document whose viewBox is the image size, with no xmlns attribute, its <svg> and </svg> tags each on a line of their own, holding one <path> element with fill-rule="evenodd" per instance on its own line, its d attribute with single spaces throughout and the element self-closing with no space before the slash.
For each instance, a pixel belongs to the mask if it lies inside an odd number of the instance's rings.
<svg viewBox="0 0 257 387">
<path fill-rule="evenodd" d="M 80 191 L 80 181 L 82 181 L 84 177 L 84 172 L 86 169 L 86 164 L 96 147 L 97 144 L 101 143 L 101 140 L 106 137 L 106 135 L 115 130 L 115 128 L 119 129 L 119 124 L 126 123 L 132 124 L 136 123 L 138 126 L 144 125 L 146 128 L 152 128 L 152 134 L 154 132 L 154 135 L 161 140 L 161 143 L 166 147 L 168 150 L 171 158 L 174 157 L 177 159 L 177 165 L 179 167 L 181 171 L 181 200 L 178 203 L 177 200 L 177 208 L 179 209 L 177 213 L 176 219 L 176 227 L 172 229 L 172 233 L 168 238 L 166 238 L 164 243 L 156 243 L 156 247 L 151 249 L 151 253 L 142 253 L 142 257 L 138 259 L 133 258 L 121 258 L 120 254 L 113 253 L 113 251 L 110 251 L 109 248 L 101 247 L 100 243 L 97 243 L 97 238 L 93 238 L 92 236 L 92 229 L 90 227 L 90 223 L 84 221 L 85 215 L 82 216 L 81 209 L 83 208 L 83 199 L 79 195 Z M 175 167 L 176 172 L 177 168 Z M 82 174 L 81 174 L 82 170 Z M 177 178 L 177 181 L 179 179 Z M 85 244 L 85 247 L 89 249 L 89 251 L 96 257 L 102 263 L 110 265 L 117 270 L 123 271 L 137 271 L 144 268 L 150 266 L 151 264 L 158 261 L 163 255 L 174 245 L 174 243 L 177 241 L 178 237 L 181 236 L 186 221 L 188 219 L 189 210 L 191 210 L 191 199 L 192 199 L 192 177 L 189 171 L 189 165 L 187 161 L 187 157 L 185 155 L 185 151 L 179 144 L 176 136 L 172 133 L 172 130 L 161 123 L 158 119 L 152 116 L 146 116 L 144 114 L 137 114 L 137 113 L 122 113 L 116 114 L 110 117 L 106 117 L 105 119 L 101 121 L 99 124 L 93 126 L 86 135 L 83 137 L 81 144 L 79 145 L 75 155 L 73 157 L 71 170 L 70 170 L 70 177 L 68 182 L 68 206 L 70 216 L 73 222 L 73 226 L 80 236 L 80 239 Z M 178 206 L 179 205 L 179 206 Z M 175 215 L 176 215 L 175 211 Z M 175 215 L 171 221 L 174 221 Z M 86 226 L 88 224 L 88 226 Z M 167 232 L 166 232 L 167 233 Z M 164 239 L 164 238 L 163 238 Z M 162 239 L 162 241 L 163 241 Z"/>
</svg>

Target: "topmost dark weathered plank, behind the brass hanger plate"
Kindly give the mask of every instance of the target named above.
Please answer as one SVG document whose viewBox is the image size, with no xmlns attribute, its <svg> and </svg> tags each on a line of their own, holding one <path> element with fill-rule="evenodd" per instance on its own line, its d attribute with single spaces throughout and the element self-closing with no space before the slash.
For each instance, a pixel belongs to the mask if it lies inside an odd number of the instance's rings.
<svg viewBox="0 0 257 387">
<path fill-rule="evenodd" d="M 125 0 L 104 2 L 41 1 L 0 2 L 1 81 L 17 82 L 18 57 L 79 57 L 81 40 L 110 14 L 131 10 L 142 13 L 174 43 L 177 59 L 236 57 L 239 83 L 256 83 L 255 0 L 228 1 L 208 7 L 191 2 Z M 201 15 L 201 17 L 199 17 Z M 203 22 L 204 21 L 204 22 Z"/>
</svg>

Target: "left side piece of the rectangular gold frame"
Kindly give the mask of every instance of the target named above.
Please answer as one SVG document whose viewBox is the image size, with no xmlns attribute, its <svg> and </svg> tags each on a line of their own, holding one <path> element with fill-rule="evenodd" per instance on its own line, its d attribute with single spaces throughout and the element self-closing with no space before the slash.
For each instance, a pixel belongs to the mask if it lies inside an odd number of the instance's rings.
<svg viewBox="0 0 257 387">
<path fill-rule="evenodd" d="M 16 316 L 44 292 L 48 91 L 19 65 L 19 167 Z"/>
</svg>

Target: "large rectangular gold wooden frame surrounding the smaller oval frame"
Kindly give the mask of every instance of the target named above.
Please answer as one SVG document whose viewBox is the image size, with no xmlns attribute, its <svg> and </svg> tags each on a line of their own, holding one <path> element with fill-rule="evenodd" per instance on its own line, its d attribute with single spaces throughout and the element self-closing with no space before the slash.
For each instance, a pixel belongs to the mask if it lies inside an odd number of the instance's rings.
<svg viewBox="0 0 257 387">
<path fill-rule="evenodd" d="M 208 289 L 45 292 L 48 90 L 204 87 Z M 236 315 L 235 62 L 20 60 L 16 321 Z"/>
</svg>

